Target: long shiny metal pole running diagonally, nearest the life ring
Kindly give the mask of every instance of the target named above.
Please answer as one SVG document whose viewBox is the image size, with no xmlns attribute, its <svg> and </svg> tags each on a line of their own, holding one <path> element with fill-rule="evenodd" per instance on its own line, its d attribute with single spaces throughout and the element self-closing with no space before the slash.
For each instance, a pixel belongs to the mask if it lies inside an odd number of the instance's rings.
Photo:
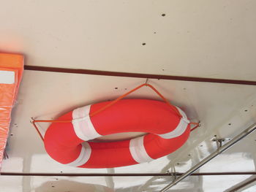
<svg viewBox="0 0 256 192">
<path fill-rule="evenodd" d="M 234 137 L 230 142 L 227 142 L 225 145 L 222 147 L 219 147 L 214 153 L 211 153 L 211 155 L 208 155 L 208 157 L 204 158 L 203 161 L 200 161 L 198 164 L 193 166 L 191 169 L 189 169 L 187 172 L 182 174 L 180 177 L 178 177 L 176 180 L 173 180 L 173 183 L 170 183 L 169 185 L 166 185 L 165 188 L 162 188 L 160 192 L 165 192 L 169 188 L 173 187 L 177 183 L 179 183 L 181 180 L 184 180 L 184 178 L 188 177 L 190 174 L 195 172 L 197 169 L 199 169 L 201 166 L 206 164 L 208 161 L 211 161 L 212 158 L 215 158 L 217 155 L 222 153 L 223 151 L 227 150 L 229 147 L 233 146 L 236 144 L 236 142 L 240 141 L 244 137 L 246 137 L 248 134 L 252 133 L 252 131 L 255 131 L 256 129 L 256 124 L 253 124 L 252 126 L 249 126 L 249 128 L 246 128 L 241 134 L 238 134 L 238 136 Z"/>
</svg>

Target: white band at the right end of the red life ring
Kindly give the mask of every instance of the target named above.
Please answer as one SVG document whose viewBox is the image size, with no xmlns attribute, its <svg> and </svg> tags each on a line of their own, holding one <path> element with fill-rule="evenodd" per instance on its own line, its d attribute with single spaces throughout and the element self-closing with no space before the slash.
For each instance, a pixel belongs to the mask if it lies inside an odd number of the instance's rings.
<svg viewBox="0 0 256 192">
<path fill-rule="evenodd" d="M 187 125 L 190 123 L 190 121 L 187 119 L 187 115 L 178 107 L 176 107 L 178 112 L 181 113 L 182 118 L 180 120 L 180 122 L 178 123 L 178 126 L 176 127 L 176 129 L 174 129 L 173 131 L 170 131 L 166 134 L 158 134 L 159 137 L 162 137 L 164 139 L 172 139 L 178 136 L 181 136 L 181 134 L 183 134 L 186 129 L 187 129 Z"/>
</svg>

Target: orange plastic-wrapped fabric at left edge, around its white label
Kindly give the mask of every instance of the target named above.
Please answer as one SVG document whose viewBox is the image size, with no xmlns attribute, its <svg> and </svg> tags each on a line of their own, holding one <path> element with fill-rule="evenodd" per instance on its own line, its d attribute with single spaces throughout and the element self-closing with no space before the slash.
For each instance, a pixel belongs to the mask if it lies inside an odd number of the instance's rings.
<svg viewBox="0 0 256 192">
<path fill-rule="evenodd" d="M 9 132 L 11 112 L 23 74 L 23 55 L 0 53 L 0 71 L 15 72 L 15 82 L 0 82 L 0 166 Z"/>
</svg>

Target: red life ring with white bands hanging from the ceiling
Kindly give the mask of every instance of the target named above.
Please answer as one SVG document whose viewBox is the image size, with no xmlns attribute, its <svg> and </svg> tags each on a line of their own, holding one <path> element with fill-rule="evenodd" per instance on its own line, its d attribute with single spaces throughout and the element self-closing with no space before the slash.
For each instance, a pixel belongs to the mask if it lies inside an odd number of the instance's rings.
<svg viewBox="0 0 256 192">
<path fill-rule="evenodd" d="M 80 107 L 52 123 L 45 133 L 45 150 L 56 161 L 83 168 L 110 168 L 151 161 L 184 145 L 190 133 L 189 120 L 162 101 L 124 99 L 94 115 L 109 102 Z M 148 132 L 118 142 L 91 142 L 91 139 L 121 132 Z"/>
</svg>

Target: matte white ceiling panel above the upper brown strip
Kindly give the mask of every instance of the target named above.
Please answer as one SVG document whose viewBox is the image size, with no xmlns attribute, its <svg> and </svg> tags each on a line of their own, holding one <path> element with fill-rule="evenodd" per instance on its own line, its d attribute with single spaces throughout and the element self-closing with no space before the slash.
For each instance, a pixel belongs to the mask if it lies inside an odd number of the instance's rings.
<svg viewBox="0 0 256 192">
<path fill-rule="evenodd" d="M 256 80 L 255 10 L 249 0 L 1 1 L 0 50 L 27 65 Z"/>
</svg>

